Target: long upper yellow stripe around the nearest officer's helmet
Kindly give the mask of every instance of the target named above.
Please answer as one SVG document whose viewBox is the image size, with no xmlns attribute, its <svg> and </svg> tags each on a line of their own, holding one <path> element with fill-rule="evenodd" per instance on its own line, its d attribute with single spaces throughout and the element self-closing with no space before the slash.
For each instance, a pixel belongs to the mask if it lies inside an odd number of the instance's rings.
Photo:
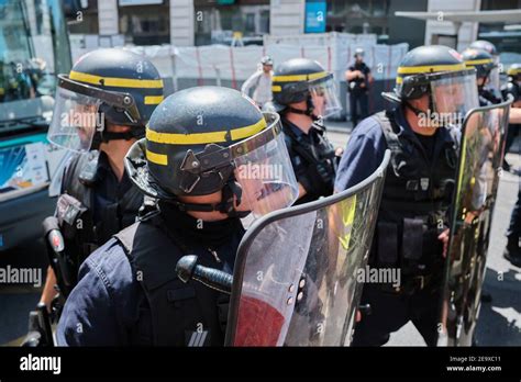
<svg viewBox="0 0 521 382">
<path fill-rule="evenodd" d="M 232 131 L 195 133 L 195 134 L 177 134 L 177 133 L 158 133 L 149 126 L 146 128 L 146 139 L 149 142 L 167 145 L 204 145 L 211 143 L 223 143 L 229 141 L 240 141 L 266 128 L 266 120 L 264 117 L 257 123 L 234 128 Z M 230 135 L 230 139 L 226 136 Z"/>
</svg>

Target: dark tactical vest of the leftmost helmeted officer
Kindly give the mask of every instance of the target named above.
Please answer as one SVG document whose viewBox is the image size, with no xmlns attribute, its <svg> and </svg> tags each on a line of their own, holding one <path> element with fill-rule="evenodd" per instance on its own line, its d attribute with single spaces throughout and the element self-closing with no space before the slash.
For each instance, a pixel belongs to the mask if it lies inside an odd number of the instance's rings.
<svg viewBox="0 0 521 382">
<path fill-rule="evenodd" d="M 56 206 L 65 248 L 77 270 L 81 262 L 112 235 L 133 224 L 143 203 L 143 194 L 132 187 L 117 203 L 100 211 L 100 222 L 93 222 L 93 188 L 97 179 L 99 151 L 73 158 L 63 180 L 63 193 Z"/>
</svg>

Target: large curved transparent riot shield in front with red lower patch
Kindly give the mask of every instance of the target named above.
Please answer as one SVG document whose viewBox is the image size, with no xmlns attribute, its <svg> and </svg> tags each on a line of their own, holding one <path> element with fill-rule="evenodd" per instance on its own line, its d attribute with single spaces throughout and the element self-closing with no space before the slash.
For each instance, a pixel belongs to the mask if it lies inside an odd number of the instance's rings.
<svg viewBox="0 0 521 382">
<path fill-rule="evenodd" d="M 235 260 L 228 346 L 347 346 L 381 196 L 387 151 L 365 181 L 275 211 L 246 232 Z"/>
</svg>

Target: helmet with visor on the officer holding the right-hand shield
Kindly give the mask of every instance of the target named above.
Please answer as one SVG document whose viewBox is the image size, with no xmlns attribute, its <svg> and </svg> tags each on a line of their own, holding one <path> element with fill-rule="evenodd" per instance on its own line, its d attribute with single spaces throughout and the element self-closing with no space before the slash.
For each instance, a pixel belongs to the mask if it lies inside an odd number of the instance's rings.
<svg viewBox="0 0 521 382">
<path fill-rule="evenodd" d="M 429 96 L 431 113 L 458 113 L 464 116 L 479 105 L 476 70 L 466 68 L 462 56 L 447 46 L 413 48 L 400 61 L 395 91 L 381 96 L 404 104 L 418 115 L 426 111 L 417 110 L 409 101 L 425 94 Z"/>
</svg>

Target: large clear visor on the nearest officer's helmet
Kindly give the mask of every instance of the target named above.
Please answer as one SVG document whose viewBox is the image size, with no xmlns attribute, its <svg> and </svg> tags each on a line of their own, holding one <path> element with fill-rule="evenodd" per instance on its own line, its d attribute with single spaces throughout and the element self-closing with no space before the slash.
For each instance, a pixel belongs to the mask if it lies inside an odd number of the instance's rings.
<svg viewBox="0 0 521 382">
<path fill-rule="evenodd" d="M 240 210 L 259 217 L 293 204 L 298 182 L 284 139 L 280 117 L 264 113 L 268 127 L 230 147 L 235 179 L 243 189 Z"/>
</svg>

